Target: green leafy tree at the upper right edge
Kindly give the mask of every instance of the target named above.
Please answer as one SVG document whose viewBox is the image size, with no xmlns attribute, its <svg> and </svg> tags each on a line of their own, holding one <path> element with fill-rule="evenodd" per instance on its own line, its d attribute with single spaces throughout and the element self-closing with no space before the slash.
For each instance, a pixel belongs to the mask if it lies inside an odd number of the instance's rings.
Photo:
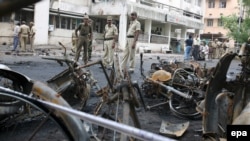
<svg viewBox="0 0 250 141">
<path fill-rule="evenodd" d="M 246 42 L 250 37 L 250 1 L 243 0 L 242 2 L 244 17 L 236 14 L 221 17 L 224 28 L 229 31 L 227 36 L 239 43 Z"/>
</svg>

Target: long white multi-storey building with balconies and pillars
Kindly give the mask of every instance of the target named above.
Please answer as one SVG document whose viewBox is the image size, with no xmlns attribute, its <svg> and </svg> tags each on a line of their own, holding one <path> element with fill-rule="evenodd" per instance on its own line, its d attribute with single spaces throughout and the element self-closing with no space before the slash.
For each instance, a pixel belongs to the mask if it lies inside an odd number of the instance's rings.
<svg viewBox="0 0 250 141">
<path fill-rule="evenodd" d="M 204 9 L 205 0 L 43 0 L 0 19 L 0 43 L 11 43 L 14 23 L 25 20 L 35 23 L 36 45 L 58 41 L 70 45 L 72 30 L 87 13 L 93 20 L 96 42 L 101 42 L 106 17 L 113 16 L 123 49 L 129 15 L 136 11 L 142 27 L 137 47 L 175 50 L 177 40 L 183 43 L 188 34 L 202 32 Z"/>
</svg>

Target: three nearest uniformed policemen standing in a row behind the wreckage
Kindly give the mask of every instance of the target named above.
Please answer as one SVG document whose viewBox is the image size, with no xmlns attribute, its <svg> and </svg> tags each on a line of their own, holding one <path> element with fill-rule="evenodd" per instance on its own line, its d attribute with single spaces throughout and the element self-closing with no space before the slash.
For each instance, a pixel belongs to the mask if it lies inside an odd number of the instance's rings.
<svg viewBox="0 0 250 141">
<path fill-rule="evenodd" d="M 127 65 L 129 65 L 129 71 L 133 72 L 135 69 L 135 53 L 136 53 L 136 43 L 138 41 L 139 32 L 141 30 L 141 24 L 137 20 L 137 12 L 132 12 L 130 14 L 130 23 L 128 25 L 127 31 L 127 42 L 121 61 L 122 70 L 127 70 Z M 104 55 L 102 61 L 105 68 L 111 68 L 114 62 L 114 50 L 116 46 L 116 41 L 118 37 L 118 29 L 115 24 L 112 24 L 112 16 L 107 17 L 107 24 L 105 25 L 104 31 Z M 79 60 L 80 52 L 83 50 L 83 62 L 87 64 L 91 61 L 92 53 L 92 40 L 93 40 L 93 30 L 91 26 L 91 19 L 88 15 L 84 15 L 83 23 L 81 23 L 76 30 L 72 33 L 72 52 L 75 52 L 75 61 Z"/>
</svg>

